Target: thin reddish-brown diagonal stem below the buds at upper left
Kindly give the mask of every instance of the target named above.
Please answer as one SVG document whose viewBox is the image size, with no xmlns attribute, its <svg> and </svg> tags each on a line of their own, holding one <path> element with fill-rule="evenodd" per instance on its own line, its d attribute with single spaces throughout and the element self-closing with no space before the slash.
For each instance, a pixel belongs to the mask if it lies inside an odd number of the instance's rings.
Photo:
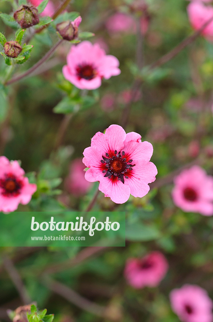
<svg viewBox="0 0 213 322">
<path fill-rule="evenodd" d="M 38 67 L 40 67 L 44 62 L 47 61 L 47 59 L 49 59 L 53 53 L 55 52 L 55 50 L 58 48 L 58 46 L 63 42 L 63 39 L 59 40 L 45 55 L 44 57 L 42 57 L 35 65 L 33 65 L 31 68 L 29 68 L 27 71 L 25 71 L 24 73 L 22 73 L 21 75 L 15 76 L 13 77 L 10 81 L 7 81 L 5 83 L 5 85 L 10 85 L 13 84 L 17 81 L 22 80 L 23 78 L 28 77 L 30 74 L 32 74 L 34 71 L 37 70 Z"/>
</svg>

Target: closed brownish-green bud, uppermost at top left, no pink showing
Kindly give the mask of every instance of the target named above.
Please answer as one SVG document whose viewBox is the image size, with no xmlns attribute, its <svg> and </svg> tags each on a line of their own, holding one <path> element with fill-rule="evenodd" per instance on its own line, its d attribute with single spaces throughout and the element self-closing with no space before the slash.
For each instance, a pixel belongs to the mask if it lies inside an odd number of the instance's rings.
<svg viewBox="0 0 213 322">
<path fill-rule="evenodd" d="M 33 6 L 21 5 L 13 14 L 21 28 L 29 28 L 39 23 L 38 10 Z"/>
</svg>

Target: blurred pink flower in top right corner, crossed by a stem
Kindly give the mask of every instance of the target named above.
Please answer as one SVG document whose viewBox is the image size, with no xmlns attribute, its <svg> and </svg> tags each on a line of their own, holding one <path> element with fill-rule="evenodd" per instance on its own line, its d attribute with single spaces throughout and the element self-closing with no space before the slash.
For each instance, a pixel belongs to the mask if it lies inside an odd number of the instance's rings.
<svg viewBox="0 0 213 322">
<path fill-rule="evenodd" d="M 195 30 L 200 29 L 210 18 L 213 17 L 213 7 L 206 6 L 202 2 L 192 1 L 188 7 L 189 21 Z M 203 30 L 202 34 L 212 40 L 213 38 L 213 21 Z"/>
</svg>

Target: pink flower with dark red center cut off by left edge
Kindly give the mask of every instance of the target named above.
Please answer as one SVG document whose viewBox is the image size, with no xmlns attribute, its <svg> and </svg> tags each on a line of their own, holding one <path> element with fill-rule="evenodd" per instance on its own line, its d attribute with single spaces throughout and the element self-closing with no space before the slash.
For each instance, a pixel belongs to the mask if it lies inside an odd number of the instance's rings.
<svg viewBox="0 0 213 322">
<path fill-rule="evenodd" d="M 11 212 L 19 204 L 28 204 L 37 186 L 29 184 L 18 161 L 0 156 L 0 211 Z"/>
</svg>

